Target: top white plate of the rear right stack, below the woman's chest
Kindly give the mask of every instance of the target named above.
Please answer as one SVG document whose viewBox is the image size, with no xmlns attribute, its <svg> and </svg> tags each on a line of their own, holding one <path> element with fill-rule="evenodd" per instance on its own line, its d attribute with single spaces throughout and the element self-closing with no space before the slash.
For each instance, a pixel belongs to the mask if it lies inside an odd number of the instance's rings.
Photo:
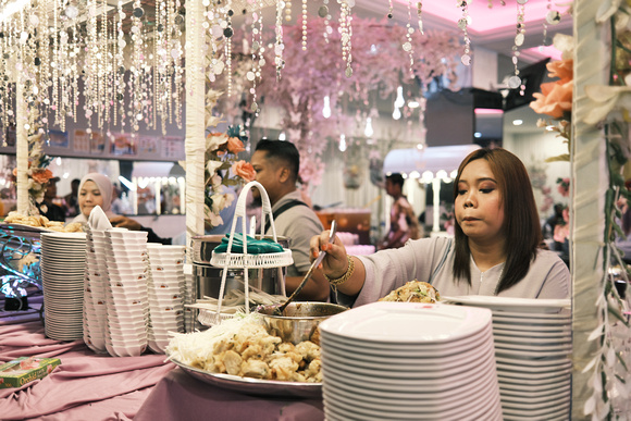
<svg viewBox="0 0 631 421">
<path fill-rule="evenodd" d="M 539 299 L 539 298 L 509 298 L 485 295 L 466 295 L 458 297 L 441 296 L 442 301 L 458 302 L 465 306 L 484 307 L 493 310 L 520 312 L 556 313 L 561 309 L 569 309 L 570 299 Z"/>
</svg>

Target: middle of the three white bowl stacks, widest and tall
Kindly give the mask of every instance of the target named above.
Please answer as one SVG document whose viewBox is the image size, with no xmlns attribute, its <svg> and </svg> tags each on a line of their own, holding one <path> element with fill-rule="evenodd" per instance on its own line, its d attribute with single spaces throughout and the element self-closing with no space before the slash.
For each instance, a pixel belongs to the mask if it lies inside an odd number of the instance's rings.
<svg viewBox="0 0 631 421">
<path fill-rule="evenodd" d="M 114 357 L 139 356 L 147 348 L 147 233 L 106 231 L 106 348 Z"/>
</svg>

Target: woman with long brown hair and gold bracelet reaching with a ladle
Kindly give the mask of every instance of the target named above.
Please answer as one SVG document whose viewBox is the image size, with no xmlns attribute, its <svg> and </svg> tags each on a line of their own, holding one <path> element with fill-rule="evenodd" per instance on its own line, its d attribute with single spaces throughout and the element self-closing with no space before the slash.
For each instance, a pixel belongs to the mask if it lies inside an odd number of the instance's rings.
<svg viewBox="0 0 631 421">
<path fill-rule="evenodd" d="M 541 227 L 523 163 L 505 149 L 478 149 L 455 181 L 455 238 L 409 240 L 372 256 L 347 256 L 324 232 L 311 238 L 314 258 L 347 306 L 376 301 L 408 281 L 426 281 L 442 296 L 486 295 L 569 298 L 570 273 L 558 256 L 540 248 Z"/>
</svg>

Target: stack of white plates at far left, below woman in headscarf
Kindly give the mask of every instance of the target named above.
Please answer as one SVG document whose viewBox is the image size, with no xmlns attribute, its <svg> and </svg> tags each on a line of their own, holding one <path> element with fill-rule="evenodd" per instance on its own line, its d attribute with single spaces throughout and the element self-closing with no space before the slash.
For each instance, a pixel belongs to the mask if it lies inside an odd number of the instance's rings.
<svg viewBox="0 0 631 421">
<path fill-rule="evenodd" d="M 41 233 L 45 333 L 58 340 L 83 337 L 85 233 Z"/>
</svg>

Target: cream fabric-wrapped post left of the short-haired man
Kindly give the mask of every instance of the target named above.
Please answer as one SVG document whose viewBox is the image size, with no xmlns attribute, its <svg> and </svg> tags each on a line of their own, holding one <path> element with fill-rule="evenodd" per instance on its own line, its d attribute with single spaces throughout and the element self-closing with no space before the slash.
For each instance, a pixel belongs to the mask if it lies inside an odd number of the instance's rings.
<svg viewBox="0 0 631 421">
<path fill-rule="evenodd" d="M 203 7 L 201 0 L 186 2 L 186 245 L 203 234 L 205 168 L 205 72 Z M 188 253 L 188 262 L 191 262 Z"/>
</svg>

